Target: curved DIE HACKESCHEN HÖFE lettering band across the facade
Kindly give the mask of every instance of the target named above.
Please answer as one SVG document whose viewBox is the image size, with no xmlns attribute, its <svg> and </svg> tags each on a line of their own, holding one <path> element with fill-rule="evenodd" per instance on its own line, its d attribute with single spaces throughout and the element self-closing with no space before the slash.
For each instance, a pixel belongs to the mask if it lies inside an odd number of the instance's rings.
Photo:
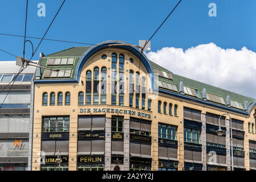
<svg viewBox="0 0 256 182">
<path fill-rule="evenodd" d="M 79 109 L 79 113 L 115 113 L 115 114 L 129 114 L 129 115 L 137 115 L 137 117 L 142 118 L 151 118 L 151 114 L 146 114 L 140 111 L 133 110 L 125 110 L 125 109 L 111 109 L 111 108 L 81 108 Z"/>
</svg>

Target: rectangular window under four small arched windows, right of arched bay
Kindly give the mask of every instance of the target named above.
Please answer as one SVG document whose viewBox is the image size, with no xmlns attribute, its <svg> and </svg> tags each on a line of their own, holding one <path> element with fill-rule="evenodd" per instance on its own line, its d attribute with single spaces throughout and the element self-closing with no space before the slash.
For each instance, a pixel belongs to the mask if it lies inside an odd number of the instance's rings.
<svg viewBox="0 0 256 182">
<path fill-rule="evenodd" d="M 177 126 L 159 123 L 159 138 L 177 140 Z"/>
</svg>

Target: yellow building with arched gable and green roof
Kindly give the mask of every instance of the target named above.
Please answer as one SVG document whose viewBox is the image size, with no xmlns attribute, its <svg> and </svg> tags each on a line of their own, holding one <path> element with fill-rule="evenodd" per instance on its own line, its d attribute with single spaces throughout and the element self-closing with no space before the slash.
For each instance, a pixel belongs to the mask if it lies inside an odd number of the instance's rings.
<svg viewBox="0 0 256 182">
<path fill-rule="evenodd" d="M 256 169 L 254 98 L 178 76 L 118 41 L 39 64 L 59 71 L 34 78 L 32 170 L 226 171 L 230 127 L 234 169 Z"/>
</svg>

